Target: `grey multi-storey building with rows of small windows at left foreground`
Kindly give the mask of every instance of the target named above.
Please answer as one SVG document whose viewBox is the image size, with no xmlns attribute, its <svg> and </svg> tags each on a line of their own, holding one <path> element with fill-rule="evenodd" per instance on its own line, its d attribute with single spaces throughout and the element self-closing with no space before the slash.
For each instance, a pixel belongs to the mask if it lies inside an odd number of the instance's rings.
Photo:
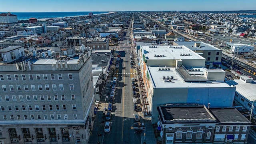
<svg viewBox="0 0 256 144">
<path fill-rule="evenodd" d="M 34 50 L 24 58 L 24 48 L 4 49 L 16 63 L 0 64 L 0 142 L 88 143 L 97 111 L 90 52 L 48 50 L 37 58 Z"/>
</svg>

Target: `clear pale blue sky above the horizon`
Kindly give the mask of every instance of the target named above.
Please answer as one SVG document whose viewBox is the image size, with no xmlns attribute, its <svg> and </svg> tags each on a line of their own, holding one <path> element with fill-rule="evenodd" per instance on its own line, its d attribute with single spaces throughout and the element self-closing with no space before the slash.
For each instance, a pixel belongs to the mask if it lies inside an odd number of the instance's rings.
<svg viewBox="0 0 256 144">
<path fill-rule="evenodd" d="M 1 12 L 256 10 L 256 0 L 0 0 Z"/>
</svg>

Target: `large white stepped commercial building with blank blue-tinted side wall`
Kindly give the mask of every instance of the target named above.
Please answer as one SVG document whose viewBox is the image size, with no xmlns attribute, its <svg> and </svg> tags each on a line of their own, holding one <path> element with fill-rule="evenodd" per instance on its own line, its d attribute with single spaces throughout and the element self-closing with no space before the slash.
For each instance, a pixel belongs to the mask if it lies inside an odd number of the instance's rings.
<svg viewBox="0 0 256 144">
<path fill-rule="evenodd" d="M 224 70 L 204 68 L 205 58 L 185 46 L 140 46 L 140 70 L 146 95 L 144 112 L 157 122 L 157 106 L 197 103 L 232 107 L 235 86 L 224 82 Z"/>
</svg>

